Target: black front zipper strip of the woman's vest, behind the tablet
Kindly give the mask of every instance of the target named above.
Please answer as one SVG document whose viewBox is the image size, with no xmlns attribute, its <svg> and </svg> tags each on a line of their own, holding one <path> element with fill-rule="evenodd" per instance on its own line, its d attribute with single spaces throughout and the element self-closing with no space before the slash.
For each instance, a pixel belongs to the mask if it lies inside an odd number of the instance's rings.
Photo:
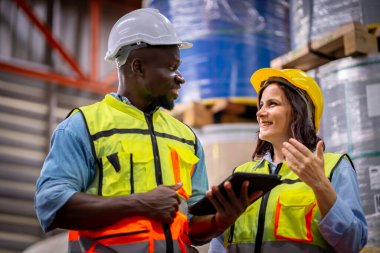
<svg viewBox="0 0 380 253">
<path fill-rule="evenodd" d="M 278 171 L 280 170 L 282 166 L 282 163 L 279 163 L 276 167 L 276 170 L 274 174 L 278 174 Z M 269 174 L 272 174 L 270 165 L 268 164 Z M 267 192 L 260 203 L 260 211 L 259 211 L 259 220 L 257 224 L 257 233 L 256 233 L 256 239 L 255 239 L 255 253 L 261 253 L 262 246 L 263 246 L 263 236 L 264 236 L 264 224 L 265 224 L 265 213 L 268 205 L 268 199 L 270 192 Z"/>
</svg>

